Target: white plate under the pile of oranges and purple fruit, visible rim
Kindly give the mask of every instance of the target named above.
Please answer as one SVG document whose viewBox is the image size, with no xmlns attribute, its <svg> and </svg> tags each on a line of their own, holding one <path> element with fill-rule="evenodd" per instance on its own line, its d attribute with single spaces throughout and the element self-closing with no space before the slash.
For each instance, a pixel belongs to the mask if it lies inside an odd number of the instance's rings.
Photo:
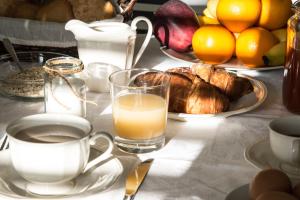
<svg viewBox="0 0 300 200">
<path fill-rule="evenodd" d="M 193 52 L 188 53 L 179 53 L 172 49 L 167 49 L 166 47 L 160 47 L 160 50 L 170 58 L 180 61 L 187 61 L 191 63 L 201 63 Z M 225 68 L 227 70 L 233 71 L 242 71 L 242 70 L 254 70 L 254 71 L 267 71 L 267 70 L 275 70 L 275 69 L 283 69 L 283 66 L 270 66 L 270 67 L 259 67 L 259 68 L 249 68 L 242 63 L 240 63 L 237 59 L 232 59 L 227 63 L 216 65 L 216 67 Z"/>
</svg>

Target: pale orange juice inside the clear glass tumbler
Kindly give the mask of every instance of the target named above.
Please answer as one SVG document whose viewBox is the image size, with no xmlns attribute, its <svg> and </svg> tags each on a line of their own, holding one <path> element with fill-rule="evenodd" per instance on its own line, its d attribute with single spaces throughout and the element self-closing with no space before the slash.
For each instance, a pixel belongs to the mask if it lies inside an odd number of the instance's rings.
<svg viewBox="0 0 300 200">
<path fill-rule="evenodd" d="M 128 93 L 116 97 L 113 105 L 113 123 L 121 138 L 155 138 L 165 131 L 167 112 L 167 101 L 160 96 Z"/>
</svg>

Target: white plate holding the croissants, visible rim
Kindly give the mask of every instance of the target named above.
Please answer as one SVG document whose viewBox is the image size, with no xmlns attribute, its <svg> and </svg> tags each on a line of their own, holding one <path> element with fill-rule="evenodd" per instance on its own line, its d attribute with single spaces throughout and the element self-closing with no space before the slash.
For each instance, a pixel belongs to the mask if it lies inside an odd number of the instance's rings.
<svg viewBox="0 0 300 200">
<path fill-rule="evenodd" d="M 186 114 L 186 113 L 168 113 L 169 119 L 175 119 L 179 121 L 192 121 L 197 119 L 209 118 L 209 117 L 229 117 L 232 115 L 242 114 L 254 110 L 260 106 L 267 98 L 267 87 L 261 81 L 253 79 L 248 76 L 237 74 L 237 76 L 244 77 L 250 80 L 253 85 L 254 91 L 239 98 L 235 102 L 230 103 L 229 111 L 218 114 Z"/>
</svg>

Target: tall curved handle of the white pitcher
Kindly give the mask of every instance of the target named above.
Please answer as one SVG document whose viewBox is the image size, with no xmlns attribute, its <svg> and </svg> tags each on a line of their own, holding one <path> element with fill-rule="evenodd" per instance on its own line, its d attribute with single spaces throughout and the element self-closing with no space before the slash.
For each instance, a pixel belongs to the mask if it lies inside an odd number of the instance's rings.
<svg viewBox="0 0 300 200">
<path fill-rule="evenodd" d="M 136 57 L 133 61 L 132 66 L 134 66 L 139 61 L 139 59 L 141 58 L 142 54 L 144 53 L 146 47 L 148 46 L 148 44 L 150 42 L 152 32 L 153 32 L 153 27 L 152 27 L 151 21 L 148 18 L 142 17 L 142 16 L 136 17 L 132 20 L 132 23 L 131 23 L 131 29 L 132 30 L 136 31 L 136 29 L 137 29 L 136 25 L 139 21 L 145 21 L 147 23 L 148 31 L 147 31 L 147 35 L 145 37 L 145 40 L 144 40 L 142 46 L 140 47 L 140 50 L 136 54 Z"/>
</svg>

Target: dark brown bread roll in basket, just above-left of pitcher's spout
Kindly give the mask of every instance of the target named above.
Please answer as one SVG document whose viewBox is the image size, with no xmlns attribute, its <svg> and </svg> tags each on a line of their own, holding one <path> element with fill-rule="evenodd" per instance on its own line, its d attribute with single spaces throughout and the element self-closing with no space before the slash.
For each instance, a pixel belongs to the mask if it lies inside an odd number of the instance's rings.
<svg viewBox="0 0 300 200">
<path fill-rule="evenodd" d="M 67 22 L 74 15 L 67 0 L 53 0 L 39 9 L 36 18 L 41 21 Z"/>
</svg>

